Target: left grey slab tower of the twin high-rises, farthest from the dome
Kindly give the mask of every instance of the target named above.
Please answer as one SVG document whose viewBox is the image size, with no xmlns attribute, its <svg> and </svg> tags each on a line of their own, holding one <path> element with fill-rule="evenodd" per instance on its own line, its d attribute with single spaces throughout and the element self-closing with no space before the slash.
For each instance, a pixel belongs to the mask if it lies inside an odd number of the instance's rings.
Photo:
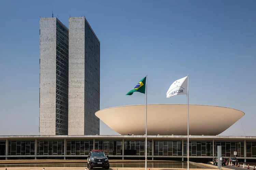
<svg viewBox="0 0 256 170">
<path fill-rule="evenodd" d="M 40 135 L 68 135 L 68 28 L 40 18 Z"/>
</svg>

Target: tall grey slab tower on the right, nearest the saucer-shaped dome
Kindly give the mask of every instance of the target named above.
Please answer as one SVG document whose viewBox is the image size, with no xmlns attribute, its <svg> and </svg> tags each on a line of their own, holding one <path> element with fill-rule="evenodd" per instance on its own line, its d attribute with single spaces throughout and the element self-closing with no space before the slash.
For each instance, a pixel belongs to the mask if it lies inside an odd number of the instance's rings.
<svg viewBox="0 0 256 170">
<path fill-rule="evenodd" d="M 100 41 L 85 17 L 69 18 L 68 135 L 99 135 Z"/>
</svg>

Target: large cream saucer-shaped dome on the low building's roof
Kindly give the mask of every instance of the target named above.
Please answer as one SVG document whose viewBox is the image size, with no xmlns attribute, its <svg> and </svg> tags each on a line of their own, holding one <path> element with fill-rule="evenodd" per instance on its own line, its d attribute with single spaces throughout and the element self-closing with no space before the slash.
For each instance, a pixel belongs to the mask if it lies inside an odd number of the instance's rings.
<svg viewBox="0 0 256 170">
<path fill-rule="evenodd" d="M 146 105 L 102 109 L 95 113 L 120 135 L 145 134 Z M 219 106 L 189 104 L 189 135 L 218 135 L 244 116 Z M 148 104 L 147 135 L 187 135 L 186 104 Z"/>
</svg>

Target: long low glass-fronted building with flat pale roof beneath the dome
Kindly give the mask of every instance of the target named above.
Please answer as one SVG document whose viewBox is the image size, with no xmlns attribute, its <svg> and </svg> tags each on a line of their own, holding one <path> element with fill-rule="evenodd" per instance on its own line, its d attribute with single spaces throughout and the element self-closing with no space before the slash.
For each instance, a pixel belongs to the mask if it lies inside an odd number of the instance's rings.
<svg viewBox="0 0 256 170">
<path fill-rule="evenodd" d="M 256 162 L 256 136 L 189 136 L 191 161 L 210 161 L 222 147 L 222 156 Z M 92 149 L 111 159 L 144 159 L 145 135 L 0 136 L 0 159 L 85 159 Z M 148 159 L 187 159 L 187 136 L 147 136 Z"/>
</svg>

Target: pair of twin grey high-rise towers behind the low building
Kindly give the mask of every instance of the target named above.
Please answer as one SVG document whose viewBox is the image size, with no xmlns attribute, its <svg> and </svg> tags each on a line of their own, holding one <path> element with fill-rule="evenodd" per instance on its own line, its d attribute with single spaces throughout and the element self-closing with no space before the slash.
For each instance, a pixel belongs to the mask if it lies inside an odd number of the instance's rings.
<svg viewBox="0 0 256 170">
<path fill-rule="evenodd" d="M 40 18 L 39 135 L 96 135 L 100 42 L 85 17 Z"/>
</svg>

